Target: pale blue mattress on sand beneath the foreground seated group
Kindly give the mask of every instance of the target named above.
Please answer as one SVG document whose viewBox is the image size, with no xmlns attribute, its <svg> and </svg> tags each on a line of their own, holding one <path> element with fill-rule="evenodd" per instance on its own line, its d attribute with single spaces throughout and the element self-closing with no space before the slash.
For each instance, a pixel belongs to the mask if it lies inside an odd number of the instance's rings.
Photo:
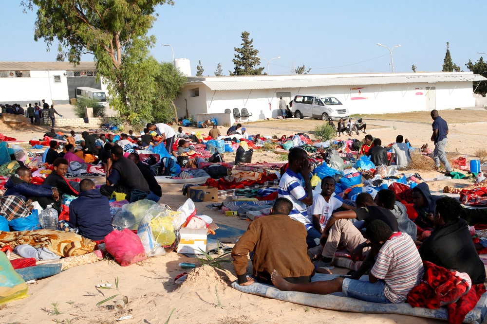
<svg viewBox="0 0 487 324">
<path fill-rule="evenodd" d="M 320 274 L 317 273 L 311 281 L 331 280 L 336 278 L 336 274 Z M 368 280 L 365 276 L 360 280 Z M 264 285 L 260 283 L 254 283 L 249 286 L 240 286 L 238 282 L 232 283 L 232 287 L 253 295 L 259 295 L 268 298 L 274 298 L 290 303 L 324 308 L 333 310 L 342 310 L 356 313 L 369 313 L 369 314 L 399 314 L 410 315 L 426 318 L 434 318 L 440 320 L 448 320 L 448 313 L 446 307 L 440 307 L 439 309 L 412 307 L 411 305 L 404 304 L 376 304 L 363 302 L 358 299 L 345 297 L 341 292 L 330 295 L 316 295 L 304 292 L 296 291 L 281 291 L 273 286 Z M 463 323 L 471 323 L 477 321 L 478 323 L 484 322 L 487 313 L 487 293 L 480 297 L 477 306 L 470 312 Z"/>
</svg>

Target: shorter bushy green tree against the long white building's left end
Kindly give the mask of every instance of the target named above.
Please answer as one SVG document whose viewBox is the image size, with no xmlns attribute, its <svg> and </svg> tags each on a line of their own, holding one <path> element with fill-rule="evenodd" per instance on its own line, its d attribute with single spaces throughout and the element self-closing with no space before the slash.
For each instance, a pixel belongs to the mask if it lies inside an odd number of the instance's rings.
<svg viewBox="0 0 487 324">
<path fill-rule="evenodd" d="M 180 94 L 187 83 L 186 76 L 170 62 L 158 64 L 155 76 L 156 92 L 152 102 L 152 116 L 154 121 L 169 123 L 178 120 L 177 108 L 174 99 Z"/>
</svg>

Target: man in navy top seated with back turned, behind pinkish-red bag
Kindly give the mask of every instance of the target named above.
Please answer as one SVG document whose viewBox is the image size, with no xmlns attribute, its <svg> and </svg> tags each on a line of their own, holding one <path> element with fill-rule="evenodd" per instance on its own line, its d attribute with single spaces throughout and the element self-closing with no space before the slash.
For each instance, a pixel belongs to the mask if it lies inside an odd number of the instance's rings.
<svg viewBox="0 0 487 324">
<path fill-rule="evenodd" d="M 69 226 L 77 228 L 83 237 L 101 241 L 113 231 L 108 198 L 95 189 L 90 179 L 81 180 L 79 190 L 79 197 L 69 205 Z"/>
</svg>

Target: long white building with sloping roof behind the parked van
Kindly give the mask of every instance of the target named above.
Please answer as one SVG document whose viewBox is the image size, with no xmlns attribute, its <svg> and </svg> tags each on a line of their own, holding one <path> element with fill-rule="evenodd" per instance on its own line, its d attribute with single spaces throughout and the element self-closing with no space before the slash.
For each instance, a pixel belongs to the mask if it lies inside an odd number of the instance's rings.
<svg viewBox="0 0 487 324">
<path fill-rule="evenodd" d="M 175 104 L 179 117 L 221 118 L 219 124 L 227 114 L 215 114 L 233 108 L 247 108 L 249 121 L 275 118 L 279 97 L 289 102 L 298 93 L 336 97 L 350 114 L 452 109 L 475 106 L 472 81 L 481 80 L 487 78 L 473 72 L 188 77 Z"/>
</svg>

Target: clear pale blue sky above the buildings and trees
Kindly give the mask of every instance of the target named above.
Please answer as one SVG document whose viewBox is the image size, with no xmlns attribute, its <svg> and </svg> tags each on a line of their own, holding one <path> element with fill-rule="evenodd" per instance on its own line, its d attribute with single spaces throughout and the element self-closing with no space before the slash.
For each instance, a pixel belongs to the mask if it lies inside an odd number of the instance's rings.
<svg viewBox="0 0 487 324">
<path fill-rule="evenodd" d="M 34 41 L 35 13 L 23 14 L 19 2 L 0 0 L 0 60 L 55 61 L 56 47 L 46 52 L 43 41 Z M 201 60 L 204 75 L 214 75 L 218 63 L 225 75 L 233 71 L 233 48 L 240 47 L 244 30 L 259 56 L 281 56 L 271 62 L 271 74 L 289 74 L 293 60 L 311 73 L 388 72 L 389 52 L 376 43 L 402 45 L 393 51 L 395 72 L 411 72 L 412 64 L 417 71 L 441 71 L 447 41 L 453 63 L 466 71 L 468 59 L 487 53 L 487 26 L 479 16 L 485 12 L 487 1 L 471 0 L 175 0 L 174 6 L 157 8 L 150 34 L 157 37 L 156 59 L 172 60 L 170 48 L 161 47 L 170 44 L 175 57 L 189 59 L 191 68 Z M 261 64 L 267 72 L 265 61 Z M 336 68 L 318 69 L 328 67 Z"/>
</svg>

